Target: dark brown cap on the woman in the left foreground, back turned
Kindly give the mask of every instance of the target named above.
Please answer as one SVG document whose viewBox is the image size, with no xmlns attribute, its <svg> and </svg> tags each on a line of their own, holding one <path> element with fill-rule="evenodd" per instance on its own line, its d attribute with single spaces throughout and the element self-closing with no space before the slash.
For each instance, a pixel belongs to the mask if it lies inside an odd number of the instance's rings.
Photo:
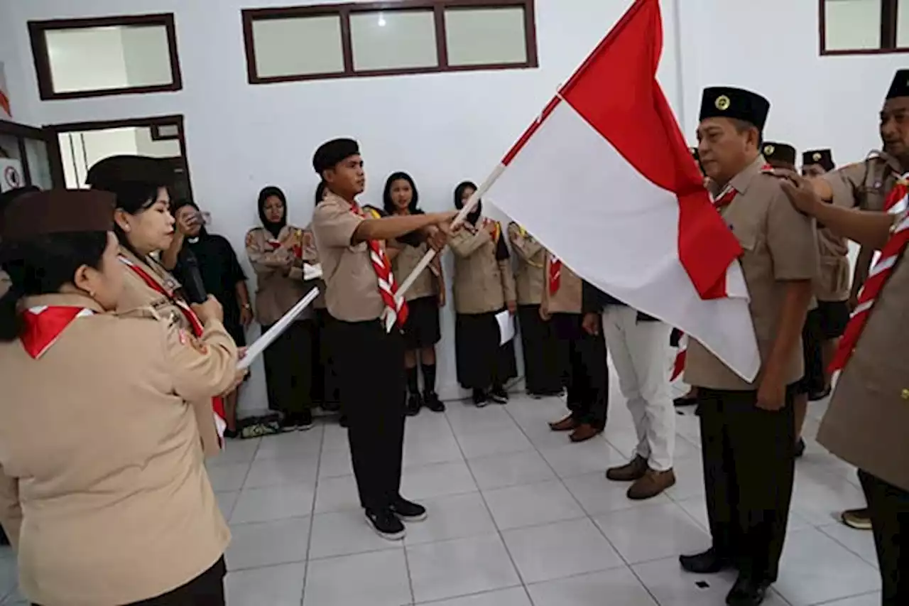
<svg viewBox="0 0 909 606">
<path fill-rule="evenodd" d="M 115 196 L 97 189 L 50 189 L 15 198 L 4 212 L 5 242 L 62 232 L 111 231 Z"/>
</svg>

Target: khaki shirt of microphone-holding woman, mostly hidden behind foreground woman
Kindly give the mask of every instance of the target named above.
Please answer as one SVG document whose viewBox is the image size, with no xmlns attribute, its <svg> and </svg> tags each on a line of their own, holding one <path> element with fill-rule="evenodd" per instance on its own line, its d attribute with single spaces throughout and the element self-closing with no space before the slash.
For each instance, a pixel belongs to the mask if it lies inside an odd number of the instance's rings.
<svg viewBox="0 0 909 606">
<path fill-rule="evenodd" d="M 180 283 L 165 268 L 153 260 L 135 257 L 133 253 L 124 247 L 120 248 L 120 255 L 127 258 L 135 266 L 142 268 L 148 276 L 155 279 L 155 282 L 161 288 L 165 289 L 165 292 L 171 293 L 173 298 L 179 297 L 175 294 L 175 291 L 180 288 Z M 129 313 L 138 308 L 152 308 L 155 313 L 165 318 L 165 320 L 173 322 L 179 328 L 192 332 L 193 327 L 189 325 L 183 312 L 177 307 L 172 298 L 168 298 L 151 288 L 135 271 L 125 267 L 123 294 L 121 294 L 117 303 L 117 312 Z M 205 337 L 205 334 L 203 334 L 203 337 Z M 212 400 L 210 398 L 199 399 L 193 402 L 193 407 L 205 456 L 215 456 L 221 452 L 221 440 L 218 438 L 218 430 L 215 427 Z"/>
</svg>

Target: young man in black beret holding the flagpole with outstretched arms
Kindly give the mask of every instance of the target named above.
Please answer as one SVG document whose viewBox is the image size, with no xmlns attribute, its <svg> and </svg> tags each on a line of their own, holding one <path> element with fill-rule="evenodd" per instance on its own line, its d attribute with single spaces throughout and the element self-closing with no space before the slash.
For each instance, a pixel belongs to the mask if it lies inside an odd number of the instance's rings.
<svg viewBox="0 0 909 606">
<path fill-rule="evenodd" d="M 365 189 L 363 158 L 352 139 L 320 146 L 313 167 L 327 186 L 315 207 L 313 234 L 360 503 L 380 536 L 402 540 L 401 520 L 424 520 L 426 510 L 400 493 L 406 392 L 400 327 L 406 305 L 396 301 L 384 241 L 446 224 L 454 213 L 365 217 L 356 203 Z M 386 315 L 396 318 L 390 332 L 382 321 Z"/>
</svg>

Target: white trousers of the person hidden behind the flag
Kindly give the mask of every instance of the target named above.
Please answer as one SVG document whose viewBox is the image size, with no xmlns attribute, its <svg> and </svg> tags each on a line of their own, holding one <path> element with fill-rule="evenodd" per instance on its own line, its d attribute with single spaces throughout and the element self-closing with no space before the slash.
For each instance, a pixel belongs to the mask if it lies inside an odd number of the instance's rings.
<svg viewBox="0 0 909 606">
<path fill-rule="evenodd" d="M 663 322 L 639 322 L 637 311 L 611 305 L 603 314 L 606 348 L 637 431 L 636 454 L 656 471 L 671 470 L 675 409 L 669 386 L 669 335 Z"/>
</svg>

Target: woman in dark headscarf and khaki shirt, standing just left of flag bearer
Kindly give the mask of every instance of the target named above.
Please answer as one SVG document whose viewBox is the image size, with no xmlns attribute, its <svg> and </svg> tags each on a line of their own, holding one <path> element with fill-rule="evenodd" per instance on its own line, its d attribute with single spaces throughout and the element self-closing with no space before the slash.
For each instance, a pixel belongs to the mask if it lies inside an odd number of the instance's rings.
<svg viewBox="0 0 909 606">
<path fill-rule="evenodd" d="M 265 187 L 258 207 L 262 227 L 246 234 L 246 255 L 258 281 L 255 318 L 265 332 L 315 286 L 304 282 L 304 265 L 317 255 L 313 233 L 287 225 L 284 192 Z M 263 355 L 268 408 L 283 413 L 284 429 L 313 427 L 314 331 L 313 311 L 307 308 Z"/>
</svg>

